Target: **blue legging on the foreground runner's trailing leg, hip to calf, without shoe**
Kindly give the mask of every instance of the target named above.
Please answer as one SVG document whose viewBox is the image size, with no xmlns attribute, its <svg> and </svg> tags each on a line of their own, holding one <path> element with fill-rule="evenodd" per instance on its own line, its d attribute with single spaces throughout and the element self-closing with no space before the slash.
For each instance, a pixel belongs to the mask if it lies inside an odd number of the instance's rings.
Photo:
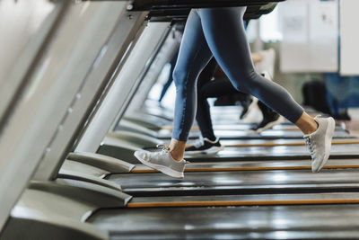
<svg viewBox="0 0 359 240">
<path fill-rule="evenodd" d="M 253 66 L 242 22 L 245 10 L 246 7 L 200 9 L 208 46 L 237 90 L 256 96 L 295 122 L 302 116 L 302 107 L 285 88 L 258 75 Z"/>
</svg>

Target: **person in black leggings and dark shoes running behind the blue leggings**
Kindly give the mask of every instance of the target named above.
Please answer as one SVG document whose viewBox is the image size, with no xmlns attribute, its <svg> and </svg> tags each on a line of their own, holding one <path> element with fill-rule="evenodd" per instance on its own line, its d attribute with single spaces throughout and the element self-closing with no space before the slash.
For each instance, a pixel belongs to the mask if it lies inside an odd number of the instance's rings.
<svg viewBox="0 0 359 240">
<path fill-rule="evenodd" d="M 262 60 L 261 55 L 252 54 L 252 60 L 256 66 L 256 64 Z M 223 146 L 219 141 L 220 139 L 215 137 L 215 131 L 213 129 L 210 114 L 210 106 L 207 102 L 207 98 L 235 94 L 236 99 L 241 102 L 242 106 L 246 106 L 246 102 L 248 102 L 250 95 L 247 93 L 238 92 L 227 76 L 225 76 L 221 69 L 218 69 L 217 67 L 218 64 L 215 61 L 215 58 L 212 58 L 202 73 L 198 76 L 196 120 L 198 128 L 201 132 L 201 138 L 193 142 L 190 147 L 186 147 L 186 154 L 215 154 L 223 149 Z M 262 76 L 271 81 L 271 77 L 267 72 L 264 72 Z M 213 77 L 215 77 L 215 79 L 211 80 Z M 259 110 L 263 115 L 263 120 L 250 128 L 249 133 L 260 133 L 261 131 L 270 129 L 276 124 L 280 124 L 284 121 L 283 117 L 276 113 L 276 111 L 272 111 L 264 103 L 252 100 L 250 105 L 254 104 L 258 104 Z M 247 109 L 243 107 L 243 111 L 241 111 L 241 116 L 243 116 L 242 118 L 244 118 L 245 115 L 248 115 L 249 112 L 249 106 L 247 106 Z"/>
</svg>

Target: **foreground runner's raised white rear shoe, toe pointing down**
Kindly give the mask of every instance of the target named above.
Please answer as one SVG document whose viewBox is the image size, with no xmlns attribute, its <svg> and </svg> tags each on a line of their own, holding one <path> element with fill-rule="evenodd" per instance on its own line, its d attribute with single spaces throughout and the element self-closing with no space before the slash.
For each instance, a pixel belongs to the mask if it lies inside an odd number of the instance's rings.
<svg viewBox="0 0 359 240">
<path fill-rule="evenodd" d="M 320 116 L 315 117 L 314 120 L 318 122 L 318 129 L 309 135 L 304 135 L 304 139 L 311 153 L 311 171 L 318 173 L 328 161 L 336 123 L 333 118 L 320 118 Z"/>
</svg>

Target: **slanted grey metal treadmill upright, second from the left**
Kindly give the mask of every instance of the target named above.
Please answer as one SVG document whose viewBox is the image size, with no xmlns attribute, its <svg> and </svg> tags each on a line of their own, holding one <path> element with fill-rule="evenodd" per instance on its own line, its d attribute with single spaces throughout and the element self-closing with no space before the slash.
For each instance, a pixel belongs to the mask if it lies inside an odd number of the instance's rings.
<svg viewBox="0 0 359 240">
<path fill-rule="evenodd" d="M 115 10 L 111 9 L 111 5 L 109 5 L 107 9 L 103 9 L 103 12 L 101 12 L 103 15 L 108 15 L 113 11 L 114 17 L 119 15 L 117 19 L 118 25 L 111 33 L 109 40 L 102 43 L 101 52 L 95 58 L 91 72 L 85 76 L 85 84 L 76 93 L 76 95 L 81 94 L 81 98 L 74 99 L 72 105 L 69 106 L 71 114 L 61 123 L 61 131 L 51 142 L 53 150 L 43 156 L 44 160 L 34 175 L 35 180 L 50 180 L 57 177 L 62 161 L 73 147 L 75 139 L 83 129 L 83 124 L 86 123 L 94 105 L 98 102 L 99 94 L 106 91 L 105 87 L 112 79 L 113 71 L 123 66 L 123 55 L 128 53 L 128 46 L 143 27 L 146 13 L 129 14 L 122 12 L 118 14 L 114 12 Z M 99 19 L 101 19 L 101 15 L 99 15 Z M 99 22 L 98 27 L 101 24 L 103 22 Z M 89 43 L 91 43 L 91 40 Z"/>
</svg>

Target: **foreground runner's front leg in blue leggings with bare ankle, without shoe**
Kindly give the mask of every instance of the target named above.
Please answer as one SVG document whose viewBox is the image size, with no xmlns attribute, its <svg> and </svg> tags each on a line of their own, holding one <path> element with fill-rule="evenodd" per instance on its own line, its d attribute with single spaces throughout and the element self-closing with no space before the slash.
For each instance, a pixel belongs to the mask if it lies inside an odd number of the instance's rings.
<svg viewBox="0 0 359 240">
<path fill-rule="evenodd" d="M 197 111 L 197 77 L 212 58 L 203 35 L 196 10 L 188 16 L 179 58 L 173 72 L 176 84 L 174 128 L 171 140 L 171 156 L 180 160 Z"/>
</svg>

